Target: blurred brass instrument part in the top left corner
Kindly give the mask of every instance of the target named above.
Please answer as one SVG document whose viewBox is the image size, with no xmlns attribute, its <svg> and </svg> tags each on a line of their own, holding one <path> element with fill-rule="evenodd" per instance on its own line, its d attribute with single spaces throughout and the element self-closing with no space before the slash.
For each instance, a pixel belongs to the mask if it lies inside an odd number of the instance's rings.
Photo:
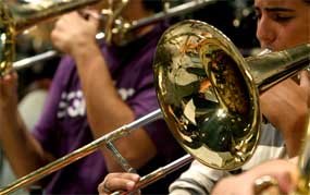
<svg viewBox="0 0 310 195">
<path fill-rule="evenodd" d="M 15 36 L 41 22 L 100 0 L 45 0 L 40 3 L 0 2 L 0 76 L 12 71 Z"/>
</svg>

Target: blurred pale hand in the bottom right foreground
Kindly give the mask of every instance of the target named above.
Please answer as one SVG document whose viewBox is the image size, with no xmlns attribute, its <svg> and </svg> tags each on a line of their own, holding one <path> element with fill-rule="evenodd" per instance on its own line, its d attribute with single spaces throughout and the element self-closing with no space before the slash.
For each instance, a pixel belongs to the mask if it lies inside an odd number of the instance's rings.
<svg viewBox="0 0 310 195">
<path fill-rule="evenodd" d="M 292 192 L 297 183 L 297 167 L 287 160 L 271 160 L 264 162 L 253 169 L 236 175 L 221 180 L 213 188 L 212 194 L 238 194 L 252 195 L 255 192 L 255 183 L 262 176 L 271 176 L 276 182 L 276 191 L 280 194 Z M 271 186 L 274 187 L 274 186 Z M 271 190 L 271 188 L 266 188 Z M 272 188 L 273 192 L 274 188 Z"/>
</svg>

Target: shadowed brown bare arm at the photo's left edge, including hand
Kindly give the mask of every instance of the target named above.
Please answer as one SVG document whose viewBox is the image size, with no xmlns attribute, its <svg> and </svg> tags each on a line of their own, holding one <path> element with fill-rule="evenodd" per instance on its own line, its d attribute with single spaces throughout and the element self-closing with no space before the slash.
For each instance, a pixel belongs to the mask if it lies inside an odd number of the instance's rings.
<svg viewBox="0 0 310 195">
<path fill-rule="evenodd" d="M 0 81 L 0 142 L 15 174 L 22 176 L 53 158 L 26 130 L 17 111 L 16 85 L 15 73 Z"/>
</svg>

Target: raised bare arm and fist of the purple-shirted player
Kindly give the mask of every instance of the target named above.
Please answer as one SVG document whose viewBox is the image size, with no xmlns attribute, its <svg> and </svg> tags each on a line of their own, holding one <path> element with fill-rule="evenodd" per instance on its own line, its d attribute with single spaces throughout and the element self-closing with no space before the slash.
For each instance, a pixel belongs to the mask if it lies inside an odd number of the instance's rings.
<svg viewBox="0 0 310 195">
<path fill-rule="evenodd" d="M 85 20 L 73 12 L 63 16 L 52 32 L 53 44 L 76 61 L 86 99 L 87 117 L 95 138 L 135 119 L 133 110 L 119 96 L 104 57 L 96 44 L 97 27 L 96 19 L 90 16 Z M 157 153 L 142 129 L 117 141 L 116 147 L 135 168 L 145 164 Z M 119 164 L 103 148 L 108 169 L 120 171 Z"/>
</svg>

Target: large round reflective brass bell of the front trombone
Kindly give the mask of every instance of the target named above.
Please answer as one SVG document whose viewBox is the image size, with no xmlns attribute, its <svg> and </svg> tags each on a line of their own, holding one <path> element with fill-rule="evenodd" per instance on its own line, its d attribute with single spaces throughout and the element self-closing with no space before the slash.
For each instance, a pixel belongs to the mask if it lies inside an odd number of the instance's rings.
<svg viewBox="0 0 310 195">
<path fill-rule="evenodd" d="M 199 21 L 164 33 L 154 60 L 158 99 L 170 130 L 201 163 L 243 166 L 259 141 L 258 92 L 231 40 Z"/>
</svg>

